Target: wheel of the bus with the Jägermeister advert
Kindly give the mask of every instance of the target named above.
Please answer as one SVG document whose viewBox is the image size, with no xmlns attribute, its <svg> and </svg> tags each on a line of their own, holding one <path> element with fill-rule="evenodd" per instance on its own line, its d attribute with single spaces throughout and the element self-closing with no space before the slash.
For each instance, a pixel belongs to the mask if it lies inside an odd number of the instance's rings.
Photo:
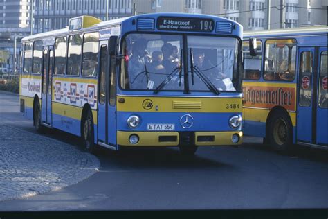
<svg viewBox="0 0 328 219">
<path fill-rule="evenodd" d="M 293 139 L 293 126 L 284 113 L 275 114 L 269 123 L 268 141 L 274 150 L 286 151 Z"/>
</svg>

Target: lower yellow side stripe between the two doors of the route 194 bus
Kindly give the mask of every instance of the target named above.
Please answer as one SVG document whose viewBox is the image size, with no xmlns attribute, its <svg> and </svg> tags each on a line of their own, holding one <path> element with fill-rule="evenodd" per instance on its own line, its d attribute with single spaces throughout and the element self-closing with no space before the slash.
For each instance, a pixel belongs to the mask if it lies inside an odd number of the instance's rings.
<svg viewBox="0 0 328 219">
<path fill-rule="evenodd" d="M 62 103 L 53 102 L 53 114 L 57 114 L 60 116 L 66 116 L 71 119 L 81 120 L 82 117 L 82 107 L 76 107 L 73 105 L 66 105 Z M 93 123 L 97 124 L 97 111 L 91 110 L 93 116 Z"/>
</svg>

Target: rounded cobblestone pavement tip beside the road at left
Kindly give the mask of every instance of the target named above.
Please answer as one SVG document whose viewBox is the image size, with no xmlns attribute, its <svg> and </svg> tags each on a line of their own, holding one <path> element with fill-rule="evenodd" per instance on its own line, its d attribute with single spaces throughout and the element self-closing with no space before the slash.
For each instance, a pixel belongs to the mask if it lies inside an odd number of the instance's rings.
<svg viewBox="0 0 328 219">
<path fill-rule="evenodd" d="M 0 202 L 76 184 L 99 167 L 74 146 L 0 124 Z"/>
</svg>

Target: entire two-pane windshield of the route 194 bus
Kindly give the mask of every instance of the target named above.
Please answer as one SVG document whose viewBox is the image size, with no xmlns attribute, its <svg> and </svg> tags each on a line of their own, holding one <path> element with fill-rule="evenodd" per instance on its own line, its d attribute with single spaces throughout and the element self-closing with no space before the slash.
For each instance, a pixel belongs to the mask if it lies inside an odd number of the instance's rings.
<svg viewBox="0 0 328 219">
<path fill-rule="evenodd" d="M 127 35 L 122 42 L 122 89 L 183 91 L 183 60 L 188 60 L 190 91 L 239 91 L 237 39 L 188 36 L 187 41 L 188 58 L 183 59 L 182 35 Z"/>
</svg>

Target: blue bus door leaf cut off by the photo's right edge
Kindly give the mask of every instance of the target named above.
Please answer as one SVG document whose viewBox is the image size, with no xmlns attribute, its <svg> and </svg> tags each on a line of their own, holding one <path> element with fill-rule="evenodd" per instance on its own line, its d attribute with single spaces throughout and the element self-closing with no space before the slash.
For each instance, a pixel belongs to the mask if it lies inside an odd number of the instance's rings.
<svg viewBox="0 0 328 219">
<path fill-rule="evenodd" d="M 328 96 L 327 96 L 327 47 L 318 51 L 318 104 L 316 144 L 328 146 Z"/>
</svg>

